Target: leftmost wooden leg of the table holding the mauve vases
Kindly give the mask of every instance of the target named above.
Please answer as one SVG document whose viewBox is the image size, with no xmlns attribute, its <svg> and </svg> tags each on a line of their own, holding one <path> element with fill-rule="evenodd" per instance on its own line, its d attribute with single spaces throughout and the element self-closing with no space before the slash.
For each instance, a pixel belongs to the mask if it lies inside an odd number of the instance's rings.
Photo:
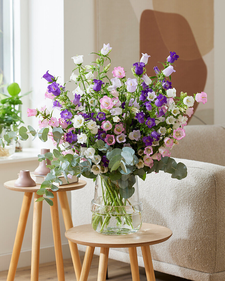
<svg viewBox="0 0 225 281">
<path fill-rule="evenodd" d="M 16 268 L 19 260 L 19 254 L 20 254 L 20 250 L 23 242 L 23 236 L 26 228 L 27 217 L 30 210 L 32 195 L 33 195 L 32 192 L 25 192 L 23 196 L 7 281 L 13 281 L 15 278 Z"/>
</svg>

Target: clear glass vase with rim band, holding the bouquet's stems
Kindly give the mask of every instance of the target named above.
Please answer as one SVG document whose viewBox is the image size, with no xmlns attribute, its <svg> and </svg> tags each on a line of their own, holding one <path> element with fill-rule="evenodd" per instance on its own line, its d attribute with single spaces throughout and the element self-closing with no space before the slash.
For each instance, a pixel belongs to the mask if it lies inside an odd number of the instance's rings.
<svg viewBox="0 0 225 281">
<path fill-rule="evenodd" d="M 142 210 L 136 175 L 122 175 L 114 181 L 102 174 L 97 176 L 91 201 L 94 230 L 108 235 L 137 232 L 142 225 Z"/>
</svg>

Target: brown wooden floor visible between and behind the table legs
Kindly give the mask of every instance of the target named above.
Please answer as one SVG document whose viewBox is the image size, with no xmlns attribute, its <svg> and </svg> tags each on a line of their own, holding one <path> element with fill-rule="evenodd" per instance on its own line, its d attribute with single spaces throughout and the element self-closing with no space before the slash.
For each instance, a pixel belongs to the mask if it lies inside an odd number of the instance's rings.
<svg viewBox="0 0 225 281">
<path fill-rule="evenodd" d="M 83 262 L 84 253 L 80 253 L 81 261 Z M 98 260 L 99 256 L 94 255 L 88 281 L 96 281 L 98 275 Z M 72 259 L 64 260 L 65 280 L 76 280 Z M 147 281 L 145 275 L 145 269 L 140 267 L 140 280 Z M 0 281 L 5 281 L 7 277 L 7 271 L 0 272 Z M 108 277 L 109 281 L 132 281 L 130 265 L 124 262 L 109 259 L 108 261 Z M 16 271 L 15 281 L 28 281 L 30 280 L 30 267 L 18 268 Z M 39 281 L 52 280 L 57 281 L 56 264 L 55 262 L 49 262 L 46 264 L 40 264 L 39 268 Z M 156 281 L 188 281 L 187 279 L 174 277 L 172 275 L 156 272 Z"/>
</svg>

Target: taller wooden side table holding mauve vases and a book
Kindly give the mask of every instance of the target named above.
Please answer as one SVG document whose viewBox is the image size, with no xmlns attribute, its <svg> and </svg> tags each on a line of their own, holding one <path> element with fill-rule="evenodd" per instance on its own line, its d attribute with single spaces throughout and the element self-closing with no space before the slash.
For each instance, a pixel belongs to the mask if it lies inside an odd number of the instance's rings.
<svg viewBox="0 0 225 281">
<path fill-rule="evenodd" d="M 7 189 L 13 191 L 24 192 L 24 197 L 22 201 L 22 207 L 19 216 L 19 222 L 17 226 L 16 237 L 13 246 L 7 281 L 13 281 L 15 278 L 15 273 L 19 260 L 19 254 L 22 246 L 23 236 L 26 228 L 26 222 L 28 218 L 28 213 L 29 213 L 33 193 L 34 193 L 34 201 L 36 201 L 39 197 L 42 197 L 42 195 L 38 195 L 36 193 L 40 189 L 40 184 L 37 184 L 36 186 L 33 187 L 15 187 L 14 182 L 15 180 L 10 180 L 8 182 L 5 182 L 4 186 Z M 66 230 L 68 230 L 69 228 L 73 227 L 73 222 L 71 218 L 66 191 L 80 189 L 83 188 L 85 185 L 86 182 L 84 180 L 79 180 L 79 182 L 76 183 L 61 185 L 59 186 L 59 190 L 54 192 L 54 198 L 51 198 L 53 201 L 53 206 L 50 206 L 50 211 L 51 211 L 53 239 L 54 239 L 54 246 L 55 246 L 55 259 L 56 259 L 58 280 L 60 281 L 64 281 L 65 277 L 64 277 L 64 267 L 63 267 L 63 258 L 62 258 L 62 245 L 61 245 L 61 236 L 60 236 L 59 210 L 58 210 L 57 197 L 59 196 L 65 228 Z M 35 202 L 33 207 L 31 281 L 38 281 L 38 275 L 39 275 L 42 202 L 43 201 Z M 69 241 L 69 248 L 71 251 L 75 275 L 77 280 L 79 280 L 80 273 L 81 273 L 81 263 L 80 263 L 78 249 L 77 249 L 77 244 Z"/>
</svg>

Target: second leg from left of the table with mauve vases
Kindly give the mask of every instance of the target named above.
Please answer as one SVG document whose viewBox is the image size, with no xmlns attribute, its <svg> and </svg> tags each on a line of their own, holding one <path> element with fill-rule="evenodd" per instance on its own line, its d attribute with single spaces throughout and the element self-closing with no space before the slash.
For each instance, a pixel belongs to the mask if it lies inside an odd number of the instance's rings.
<svg viewBox="0 0 225 281">
<path fill-rule="evenodd" d="M 33 203 L 33 230 L 32 230 L 32 250 L 31 250 L 31 281 L 38 281 L 39 275 L 39 255 L 40 255 L 40 229 L 41 229 L 41 215 L 42 203 L 35 202 L 42 195 L 34 193 Z"/>
</svg>

